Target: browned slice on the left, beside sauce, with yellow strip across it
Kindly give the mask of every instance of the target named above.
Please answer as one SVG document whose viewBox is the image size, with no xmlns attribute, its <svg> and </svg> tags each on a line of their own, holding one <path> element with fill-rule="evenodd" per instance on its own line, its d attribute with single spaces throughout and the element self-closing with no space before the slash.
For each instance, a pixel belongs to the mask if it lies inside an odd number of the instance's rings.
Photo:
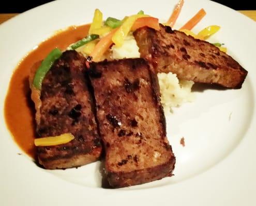
<svg viewBox="0 0 256 206">
<path fill-rule="evenodd" d="M 43 79 L 38 99 L 32 89 L 38 136 L 72 133 L 75 137 L 67 144 L 37 147 L 39 163 L 47 169 L 77 167 L 100 156 L 101 144 L 87 83 L 84 57 L 67 51 Z"/>
</svg>

